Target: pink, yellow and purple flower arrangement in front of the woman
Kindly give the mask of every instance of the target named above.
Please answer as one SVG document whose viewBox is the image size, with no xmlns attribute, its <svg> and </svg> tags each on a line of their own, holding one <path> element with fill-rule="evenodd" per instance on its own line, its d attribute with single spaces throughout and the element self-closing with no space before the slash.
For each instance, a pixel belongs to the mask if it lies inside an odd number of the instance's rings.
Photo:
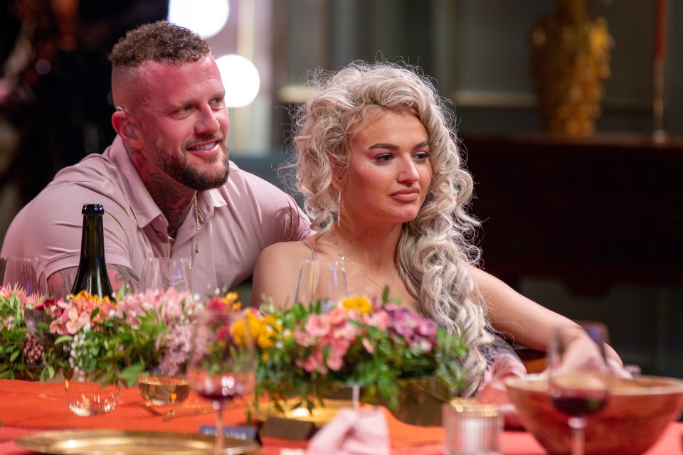
<svg viewBox="0 0 683 455">
<path fill-rule="evenodd" d="M 456 393 L 464 385 L 459 336 L 395 302 L 344 299 L 276 309 L 272 301 L 247 310 L 258 353 L 256 398 L 301 397 L 309 410 L 322 398 L 358 385 L 364 402 L 398 405 L 402 382 L 427 378 Z"/>
</svg>

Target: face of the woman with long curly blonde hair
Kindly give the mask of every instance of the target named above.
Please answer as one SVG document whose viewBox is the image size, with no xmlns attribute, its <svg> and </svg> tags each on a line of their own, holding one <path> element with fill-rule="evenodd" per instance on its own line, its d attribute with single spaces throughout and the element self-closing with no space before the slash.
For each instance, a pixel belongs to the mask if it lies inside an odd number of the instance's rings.
<svg viewBox="0 0 683 455">
<path fill-rule="evenodd" d="M 351 137 L 342 220 L 411 221 L 427 197 L 431 178 L 427 132 L 420 119 L 410 112 L 382 112 Z"/>
</svg>

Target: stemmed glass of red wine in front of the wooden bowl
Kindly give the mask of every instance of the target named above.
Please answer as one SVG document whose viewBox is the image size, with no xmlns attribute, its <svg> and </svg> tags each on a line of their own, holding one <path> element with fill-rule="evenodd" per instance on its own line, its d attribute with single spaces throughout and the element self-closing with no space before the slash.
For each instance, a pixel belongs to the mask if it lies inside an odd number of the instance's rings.
<svg viewBox="0 0 683 455">
<path fill-rule="evenodd" d="M 571 454 L 583 455 L 588 417 L 605 407 L 611 374 L 605 356 L 608 330 L 603 323 L 581 322 L 557 328 L 548 349 L 550 398 L 568 417 Z"/>
</svg>

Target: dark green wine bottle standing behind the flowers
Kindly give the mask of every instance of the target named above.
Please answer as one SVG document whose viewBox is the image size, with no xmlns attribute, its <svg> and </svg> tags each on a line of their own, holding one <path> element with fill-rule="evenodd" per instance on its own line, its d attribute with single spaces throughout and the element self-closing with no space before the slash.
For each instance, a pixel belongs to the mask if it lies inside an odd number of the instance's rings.
<svg viewBox="0 0 683 455">
<path fill-rule="evenodd" d="M 105 235 L 102 215 L 105 209 L 102 204 L 83 205 L 83 235 L 80 241 L 80 262 L 76 279 L 71 287 L 71 294 L 88 291 L 100 299 L 107 296 L 113 299 L 112 284 L 107 274 L 105 262 Z"/>
</svg>

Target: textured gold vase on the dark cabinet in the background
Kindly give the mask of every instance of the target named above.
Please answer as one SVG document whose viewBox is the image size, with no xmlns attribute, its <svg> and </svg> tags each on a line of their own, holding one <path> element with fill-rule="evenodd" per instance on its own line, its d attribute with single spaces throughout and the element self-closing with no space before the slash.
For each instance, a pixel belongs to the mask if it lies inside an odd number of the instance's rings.
<svg viewBox="0 0 683 455">
<path fill-rule="evenodd" d="M 531 71 L 541 129 L 569 137 L 595 131 L 610 75 L 613 40 L 604 18 L 589 18 L 588 0 L 557 0 L 531 33 Z"/>
</svg>

